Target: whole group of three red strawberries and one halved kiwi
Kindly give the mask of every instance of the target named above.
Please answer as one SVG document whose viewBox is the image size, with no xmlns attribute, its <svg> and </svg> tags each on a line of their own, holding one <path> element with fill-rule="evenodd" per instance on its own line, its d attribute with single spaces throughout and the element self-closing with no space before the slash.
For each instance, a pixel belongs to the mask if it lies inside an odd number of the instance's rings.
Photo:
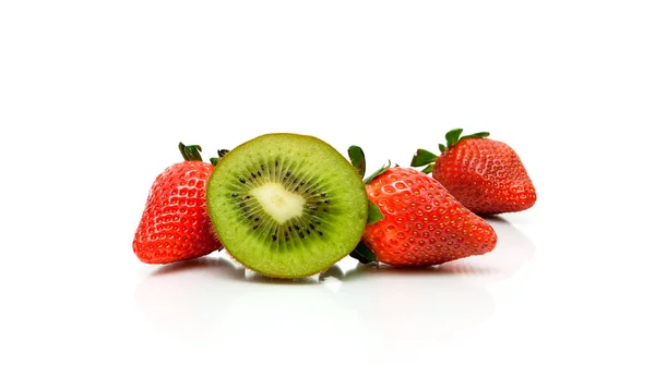
<svg viewBox="0 0 655 390">
<path fill-rule="evenodd" d="M 225 251 L 245 267 L 295 279 L 350 255 L 361 263 L 432 266 L 484 255 L 498 240 L 483 216 L 536 202 L 519 156 L 488 133 L 446 134 L 441 156 L 418 149 L 412 167 L 386 164 L 364 179 L 361 148 L 348 161 L 325 142 L 264 134 L 203 162 L 184 161 L 152 184 L 132 244 L 147 264 Z"/>
</svg>

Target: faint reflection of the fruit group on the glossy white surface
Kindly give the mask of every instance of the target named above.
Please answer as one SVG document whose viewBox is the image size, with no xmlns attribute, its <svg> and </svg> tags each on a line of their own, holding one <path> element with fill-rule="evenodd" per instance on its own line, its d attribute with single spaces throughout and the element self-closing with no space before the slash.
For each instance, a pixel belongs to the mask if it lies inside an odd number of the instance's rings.
<svg viewBox="0 0 655 390">
<path fill-rule="evenodd" d="M 491 254 L 440 267 L 362 266 L 346 258 L 320 276 L 288 281 L 207 257 L 158 268 L 135 300 L 167 337 L 243 356 L 249 345 L 267 356 L 279 349 L 302 353 L 313 342 L 335 356 L 344 345 L 358 356 L 440 348 L 492 315 L 485 283 L 511 277 L 535 251 L 505 220 L 491 223 L 502 236 Z"/>
</svg>

